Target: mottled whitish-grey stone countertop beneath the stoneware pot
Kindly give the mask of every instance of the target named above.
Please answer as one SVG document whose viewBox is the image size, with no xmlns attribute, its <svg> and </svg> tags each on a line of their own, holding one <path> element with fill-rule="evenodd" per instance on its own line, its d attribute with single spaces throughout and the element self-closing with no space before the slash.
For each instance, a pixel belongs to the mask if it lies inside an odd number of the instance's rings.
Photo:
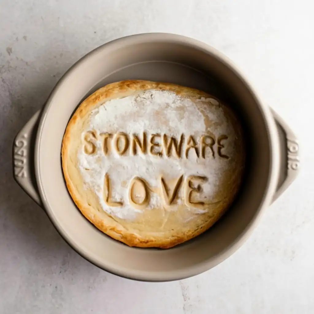
<svg viewBox="0 0 314 314">
<path fill-rule="evenodd" d="M 312 12 L 306 0 L 2 0 L 0 313 L 314 313 Z M 73 62 L 112 39 L 155 31 L 225 53 L 302 148 L 300 176 L 241 249 L 170 283 L 122 279 L 84 260 L 12 177 L 15 134 Z"/>
</svg>

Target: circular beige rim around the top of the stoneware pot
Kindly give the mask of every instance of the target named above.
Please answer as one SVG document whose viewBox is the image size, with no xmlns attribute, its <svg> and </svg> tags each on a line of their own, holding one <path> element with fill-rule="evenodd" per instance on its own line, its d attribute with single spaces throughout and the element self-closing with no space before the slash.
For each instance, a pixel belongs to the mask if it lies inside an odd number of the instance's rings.
<svg viewBox="0 0 314 314">
<path fill-rule="evenodd" d="M 55 97 L 55 95 L 58 93 L 59 88 L 62 86 L 62 84 L 68 79 L 69 76 L 71 76 L 75 70 L 78 67 L 81 67 L 84 62 L 86 62 L 89 58 L 93 58 L 95 54 L 97 54 L 100 50 L 103 49 L 114 49 L 115 45 L 121 45 L 124 43 L 132 44 L 132 43 L 141 43 L 141 42 L 148 42 L 148 41 L 169 41 L 169 43 L 179 42 L 185 45 L 191 45 L 195 49 L 204 50 L 207 53 L 213 55 L 219 62 L 225 63 L 230 71 L 233 71 L 236 73 L 237 77 L 241 79 L 242 84 L 245 85 L 245 88 L 252 94 L 254 99 L 256 100 L 256 105 L 260 107 L 261 112 L 263 114 L 264 120 L 267 124 L 267 131 L 268 131 L 268 137 L 269 137 L 269 144 L 270 144 L 270 154 L 271 154 L 271 160 L 270 160 L 270 167 L 269 167 L 269 174 L 268 174 L 268 183 L 267 183 L 267 190 L 265 191 L 265 195 L 263 197 L 262 202 L 260 203 L 259 208 L 256 211 L 256 214 L 252 218 L 251 222 L 246 226 L 246 228 L 243 230 L 241 235 L 233 241 L 233 243 L 224 250 L 224 252 L 220 252 L 218 255 L 214 257 L 213 260 L 207 260 L 204 263 L 198 264 L 195 267 L 185 268 L 183 270 L 180 270 L 178 272 L 169 272 L 169 271 L 162 271 L 162 272 L 147 272 L 147 271 L 139 271 L 135 273 L 133 270 L 130 272 L 127 269 L 121 269 L 119 267 L 111 267 L 109 265 L 106 265 L 106 261 L 97 261 L 95 258 L 88 255 L 88 252 L 84 252 L 82 248 L 80 248 L 79 244 L 73 239 L 70 239 L 67 235 L 66 230 L 63 230 L 60 225 L 58 225 L 56 219 L 53 215 L 53 209 L 51 208 L 50 204 L 47 202 L 46 194 L 45 194 L 45 188 L 43 187 L 43 183 L 41 180 L 41 171 L 40 171 L 40 143 L 42 140 L 42 131 L 45 125 L 46 117 L 49 115 L 49 109 L 52 105 L 52 99 Z M 141 280 L 141 281 L 172 281 L 172 280 L 179 280 L 184 279 L 187 277 L 194 276 L 199 273 L 203 273 L 204 271 L 218 265 L 226 258 L 230 257 L 242 244 L 243 242 L 248 238 L 248 236 L 252 233 L 253 227 L 256 225 L 258 218 L 260 218 L 261 213 L 263 209 L 265 209 L 272 200 L 273 194 L 276 190 L 278 176 L 279 176 L 279 145 L 278 145 L 278 136 L 276 131 L 275 122 L 273 120 L 273 116 L 271 115 L 271 112 L 267 106 L 264 106 L 263 103 L 259 100 L 256 93 L 253 91 L 252 87 L 246 82 L 246 80 L 241 75 L 240 71 L 236 68 L 236 66 L 225 56 L 223 56 L 219 51 L 216 49 L 200 42 L 197 40 L 194 40 L 189 37 L 181 36 L 181 35 L 175 35 L 175 34 L 168 34 L 168 33 L 146 33 L 146 34 L 138 34 L 138 35 L 131 35 L 127 37 L 122 37 L 120 39 L 116 39 L 114 41 L 111 41 L 109 43 L 106 43 L 95 50 L 89 52 L 87 55 L 82 57 L 80 60 L 78 60 L 59 80 L 59 82 L 56 84 L 55 88 L 52 90 L 48 100 L 46 101 L 46 104 L 42 110 L 42 114 L 40 117 L 37 134 L 36 134 L 36 140 L 35 140 L 35 154 L 34 154 L 34 164 L 35 164 L 35 177 L 37 181 L 37 186 L 39 190 L 39 194 L 43 203 L 43 206 L 46 210 L 46 213 L 51 220 L 54 227 L 57 229 L 59 234 L 62 236 L 62 238 L 81 256 L 83 256 L 86 260 L 93 263 L 94 265 L 110 272 L 114 273 L 116 275 L 129 278 L 129 279 L 135 279 L 135 280 Z M 210 265 L 209 265 L 210 264 Z"/>
</svg>

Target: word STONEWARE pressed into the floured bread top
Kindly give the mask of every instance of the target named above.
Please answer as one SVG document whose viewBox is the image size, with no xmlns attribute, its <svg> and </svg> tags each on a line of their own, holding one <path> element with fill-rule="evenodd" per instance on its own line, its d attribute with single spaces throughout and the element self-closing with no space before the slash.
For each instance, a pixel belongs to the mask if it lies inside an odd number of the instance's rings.
<svg viewBox="0 0 314 314">
<path fill-rule="evenodd" d="M 101 141 L 101 145 L 97 145 Z M 83 150 L 85 154 L 95 154 L 101 148 L 105 156 L 118 154 L 120 156 L 135 156 L 138 154 L 149 154 L 160 158 L 185 158 L 192 155 L 197 158 L 216 157 L 229 159 L 226 154 L 228 136 L 219 135 L 216 139 L 214 135 L 203 134 L 199 137 L 181 134 L 179 138 L 168 134 L 152 133 L 147 134 L 127 134 L 123 132 L 100 133 L 87 131 L 83 136 Z"/>
</svg>

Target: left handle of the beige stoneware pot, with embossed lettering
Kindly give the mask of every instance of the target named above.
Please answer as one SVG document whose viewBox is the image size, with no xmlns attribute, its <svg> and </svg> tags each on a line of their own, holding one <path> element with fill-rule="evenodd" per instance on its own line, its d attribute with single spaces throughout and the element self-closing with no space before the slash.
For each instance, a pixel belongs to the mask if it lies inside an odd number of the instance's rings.
<svg viewBox="0 0 314 314">
<path fill-rule="evenodd" d="M 41 199 L 34 171 L 34 146 L 40 110 L 24 125 L 14 138 L 13 176 L 19 186 L 39 205 Z"/>
</svg>

